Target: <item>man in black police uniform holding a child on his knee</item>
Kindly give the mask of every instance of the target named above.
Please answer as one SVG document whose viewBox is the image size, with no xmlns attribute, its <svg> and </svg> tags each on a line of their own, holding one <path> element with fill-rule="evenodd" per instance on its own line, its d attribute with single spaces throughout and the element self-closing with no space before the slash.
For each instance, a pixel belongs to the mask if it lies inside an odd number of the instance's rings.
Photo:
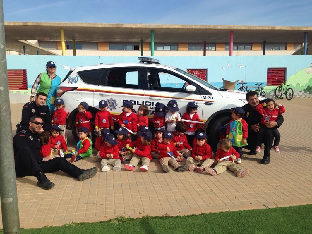
<svg viewBox="0 0 312 234">
<path fill-rule="evenodd" d="M 243 119 L 248 124 L 248 146 L 246 149 L 249 149 L 250 155 L 256 154 L 256 140 L 257 140 L 257 133 L 259 131 L 259 124 L 261 122 L 261 115 L 256 111 L 256 106 L 259 105 L 259 96 L 258 93 L 255 91 L 249 91 L 246 94 L 246 100 L 248 104 L 242 106 L 243 110 L 245 111 L 245 115 Z M 262 100 L 264 102 L 265 100 Z M 284 122 L 284 118 L 282 115 L 279 115 L 276 121 L 269 121 L 266 122 L 265 125 L 267 128 L 278 128 Z M 264 154 L 261 160 L 262 164 L 270 163 L 270 152 L 271 147 L 273 144 L 274 136 L 272 131 L 265 131 L 263 134 L 263 142 L 264 142 Z"/>
</svg>

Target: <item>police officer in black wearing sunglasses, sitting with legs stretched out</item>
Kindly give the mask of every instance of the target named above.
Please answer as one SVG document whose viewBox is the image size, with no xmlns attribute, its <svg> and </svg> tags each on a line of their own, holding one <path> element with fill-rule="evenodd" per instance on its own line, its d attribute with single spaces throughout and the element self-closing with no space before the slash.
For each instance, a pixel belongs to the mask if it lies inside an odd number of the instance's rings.
<svg viewBox="0 0 312 234">
<path fill-rule="evenodd" d="M 15 173 L 17 177 L 34 175 L 38 179 L 37 185 L 43 189 L 50 189 L 54 186 L 45 173 L 61 170 L 79 181 L 93 177 L 97 168 L 87 170 L 80 169 L 68 162 L 65 158 L 53 158 L 49 155 L 45 158 L 39 156 L 41 144 L 39 132 L 41 130 L 42 118 L 32 116 L 28 122 L 28 129 L 18 132 L 13 137 Z"/>
</svg>

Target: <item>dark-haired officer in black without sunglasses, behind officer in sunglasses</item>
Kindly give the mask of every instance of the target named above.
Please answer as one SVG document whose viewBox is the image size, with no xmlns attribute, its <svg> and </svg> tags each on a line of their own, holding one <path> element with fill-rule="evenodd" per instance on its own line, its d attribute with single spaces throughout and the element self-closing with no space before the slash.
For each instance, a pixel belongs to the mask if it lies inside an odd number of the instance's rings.
<svg viewBox="0 0 312 234">
<path fill-rule="evenodd" d="M 47 105 L 45 105 L 46 98 L 47 98 L 47 96 L 45 93 L 39 92 L 36 95 L 36 101 L 35 102 L 27 102 L 23 106 L 22 121 L 20 123 L 21 127 L 20 127 L 20 129 L 17 129 L 17 131 L 28 129 L 29 119 L 34 115 L 40 116 L 43 119 L 43 129 L 46 131 L 50 131 L 50 129 L 51 129 L 51 114 L 50 114 L 49 107 Z"/>
</svg>

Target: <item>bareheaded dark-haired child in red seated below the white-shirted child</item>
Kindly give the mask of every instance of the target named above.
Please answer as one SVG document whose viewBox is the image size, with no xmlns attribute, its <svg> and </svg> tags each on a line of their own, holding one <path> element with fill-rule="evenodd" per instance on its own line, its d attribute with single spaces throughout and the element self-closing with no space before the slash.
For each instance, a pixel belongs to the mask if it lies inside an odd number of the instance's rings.
<svg viewBox="0 0 312 234">
<path fill-rule="evenodd" d="M 185 136 L 186 125 L 183 123 L 177 123 L 176 131 L 173 133 L 174 145 L 180 154 L 184 158 L 191 157 L 192 147 L 188 144 L 188 139 Z M 180 157 L 180 161 L 183 161 L 183 157 Z M 180 162 L 178 161 L 178 162 Z"/>
</svg>

